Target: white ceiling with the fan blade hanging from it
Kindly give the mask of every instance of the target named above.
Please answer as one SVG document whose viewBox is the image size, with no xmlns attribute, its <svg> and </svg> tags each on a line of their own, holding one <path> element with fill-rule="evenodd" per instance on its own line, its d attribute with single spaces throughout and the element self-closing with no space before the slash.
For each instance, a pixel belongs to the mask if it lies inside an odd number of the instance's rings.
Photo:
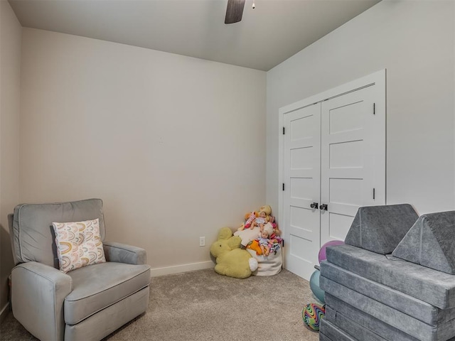
<svg viewBox="0 0 455 341">
<path fill-rule="evenodd" d="M 9 0 L 21 25 L 268 71 L 380 0 Z"/>
</svg>

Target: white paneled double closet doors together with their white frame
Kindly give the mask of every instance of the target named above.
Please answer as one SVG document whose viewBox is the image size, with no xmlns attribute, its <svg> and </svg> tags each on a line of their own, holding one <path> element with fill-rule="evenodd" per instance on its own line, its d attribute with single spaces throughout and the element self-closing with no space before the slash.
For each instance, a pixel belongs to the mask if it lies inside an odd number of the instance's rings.
<svg viewBox="0 0 455 341">
<path fill-rule="evenodd" d="M 321 246 L 345 239 L 358 207 L 385 205 L 385 70 L 279 114 L 284 267 L 308 280 Z"/>
</svg>

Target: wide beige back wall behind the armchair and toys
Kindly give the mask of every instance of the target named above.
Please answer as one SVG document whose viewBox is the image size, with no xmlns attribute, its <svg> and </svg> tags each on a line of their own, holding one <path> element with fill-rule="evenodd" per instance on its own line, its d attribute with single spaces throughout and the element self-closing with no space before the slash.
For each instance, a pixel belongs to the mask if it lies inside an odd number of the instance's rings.
<svg viewBox="0 0 455 341">
<path fill-rule="evenodd" d="M 21 67 L 21 202 L 102 198 L 155 274 L 264 204 L 265 72 L 31 28 Z"/>
</svg>

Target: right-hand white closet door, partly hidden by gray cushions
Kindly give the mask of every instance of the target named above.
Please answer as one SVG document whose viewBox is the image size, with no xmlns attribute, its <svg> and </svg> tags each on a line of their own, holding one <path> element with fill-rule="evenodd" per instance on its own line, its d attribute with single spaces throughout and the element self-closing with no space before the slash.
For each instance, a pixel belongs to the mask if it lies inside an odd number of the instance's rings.
<svg viewBox="0 0 455 341">
<path fill-rule="evenodd" d="M 358 207 L 385 204 L 385 110 L 377 96 L 372 85 L 322 102 L 321 245 L 344 240 Z"/>
</svg>

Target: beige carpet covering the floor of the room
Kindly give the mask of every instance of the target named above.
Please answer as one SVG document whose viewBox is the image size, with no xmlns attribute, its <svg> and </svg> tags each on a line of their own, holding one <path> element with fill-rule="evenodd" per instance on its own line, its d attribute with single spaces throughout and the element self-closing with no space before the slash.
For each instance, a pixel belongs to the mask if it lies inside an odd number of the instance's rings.
<svg viewBox="0 0 455 341">
<path fill-rule="evenodd" d="M 319 340 L 304 326 L 301 310 L 317 302 L 308 281 L 283 270 L 246 279 L 213 269 L 151 278 L 149 309 L 105 340 Z M 101 326 L 100 326 L 101 327 Z M 36 340 L 12 316 L 1 340 Z"/>
</svg>

